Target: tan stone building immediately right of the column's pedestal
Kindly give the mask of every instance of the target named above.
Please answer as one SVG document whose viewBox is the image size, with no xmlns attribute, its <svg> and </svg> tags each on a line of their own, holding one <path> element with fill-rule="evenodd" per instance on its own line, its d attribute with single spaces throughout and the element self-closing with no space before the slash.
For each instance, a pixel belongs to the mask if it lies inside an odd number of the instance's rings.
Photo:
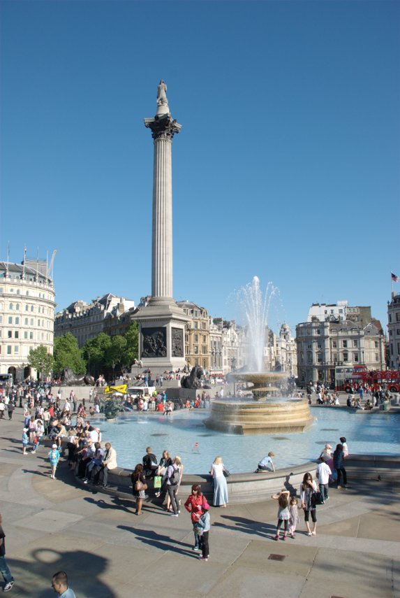
<svg viewBox="0 0 400 598">
<path fill-rule="evenodd" d="M 177 305 L 187 316 L 185 328 L 186 364 L 193 367 L 199 365 L 202 369 L 210 369 L 209 346 L 209 315 L 207 309 L 199 307 L 191 301 L 178 301 Z"/>
</svg>

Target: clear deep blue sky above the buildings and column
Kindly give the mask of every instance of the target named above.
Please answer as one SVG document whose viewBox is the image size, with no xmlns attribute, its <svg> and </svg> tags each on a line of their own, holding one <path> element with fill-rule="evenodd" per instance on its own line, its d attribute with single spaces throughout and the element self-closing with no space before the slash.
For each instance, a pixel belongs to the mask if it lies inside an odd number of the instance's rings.
<svg viewBox="0 0 400 598">
<path fill-rule="evenodd" d="M 1 2 L 0 257 L 57 249 L 58 309 L 151 292 L 153 145 L 174 118 L 174 294 L 271 323 L 400 275 L 400 3 Z M 400 283 L 394 285 L 400 292 Z"/>
</svg>

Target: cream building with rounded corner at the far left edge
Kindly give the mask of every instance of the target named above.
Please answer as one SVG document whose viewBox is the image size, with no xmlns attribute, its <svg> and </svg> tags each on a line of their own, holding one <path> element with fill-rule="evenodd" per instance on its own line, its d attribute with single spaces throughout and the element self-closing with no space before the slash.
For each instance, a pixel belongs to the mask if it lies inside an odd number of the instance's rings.
<svg viewBox="0 0 400 598">
<path fill-rule="evenodd" d="M 14 381 L 36 377 L 31 349 L 53 352 L 54 285 L 45 260 L 0 262 L 0 372 Z"/>
</svg>

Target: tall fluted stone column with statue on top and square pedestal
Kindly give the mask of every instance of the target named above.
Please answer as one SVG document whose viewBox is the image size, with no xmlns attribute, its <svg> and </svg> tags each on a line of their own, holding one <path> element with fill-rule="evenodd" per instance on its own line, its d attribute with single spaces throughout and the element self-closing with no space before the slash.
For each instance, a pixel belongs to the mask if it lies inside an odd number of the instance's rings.
<svg viewBox="0 0 400 598">
<path fill-rule="evenodd" d="M 154 373 L 186 365 L 184 334 L 189 320 L 172 297 L 172 138 L 182 125 L 171 116 L 166 91 L 161 80 L 156 115 L 145 118 L 154 139 L 151 299 L 135 313 L 139 359 Z"/>
</svg>

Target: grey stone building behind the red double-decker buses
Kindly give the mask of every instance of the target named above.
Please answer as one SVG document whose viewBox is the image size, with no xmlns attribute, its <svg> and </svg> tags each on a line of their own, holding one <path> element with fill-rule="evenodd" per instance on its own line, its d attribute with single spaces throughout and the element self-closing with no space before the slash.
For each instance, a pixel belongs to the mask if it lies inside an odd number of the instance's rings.
<svg viewBox="0 0 400 598">
<path fill-rule="evenodd" d="M 377 323 L 376 323 L 377 322 Z M 334 382 L 339 365 L 385 369 L 385 336 L 378 320 L 361 327 L 353 320 L 320 321 L 296 326 L 299 383 Z"/>
</svg>

